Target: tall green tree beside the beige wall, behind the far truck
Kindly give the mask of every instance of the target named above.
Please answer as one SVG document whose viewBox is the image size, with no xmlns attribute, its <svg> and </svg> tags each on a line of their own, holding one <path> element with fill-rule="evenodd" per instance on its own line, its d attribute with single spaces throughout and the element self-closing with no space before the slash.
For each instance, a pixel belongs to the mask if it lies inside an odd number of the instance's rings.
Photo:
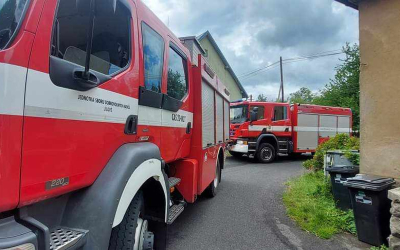
<svg viewBox="0 0 400 250">
<path fill-rule="evenodd" d="M 359 130 L 359 46 L 342 48 L 345 58 L 335 67 L 333 79 L 313 98 L 313 104 L 349 107 L 353 113 L 353 130 Z"/>
</svg>

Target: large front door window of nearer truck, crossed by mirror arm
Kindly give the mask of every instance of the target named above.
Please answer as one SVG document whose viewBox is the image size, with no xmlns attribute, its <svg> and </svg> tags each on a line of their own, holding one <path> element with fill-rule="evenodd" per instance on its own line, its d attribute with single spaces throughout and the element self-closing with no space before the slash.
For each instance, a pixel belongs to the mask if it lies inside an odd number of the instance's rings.
<svg viewBox="0 0 400 250">
<path fill-rule="evenodd" d="M 84 66 L 89 6 L 77 9 L 76 1 L 60 0 L 54 21 L 51 55 Z M 90 69 L 110 75 L 129 62 L 130 12 L 119 2 L 114 14 L 95 15 Z"/>
</svg>

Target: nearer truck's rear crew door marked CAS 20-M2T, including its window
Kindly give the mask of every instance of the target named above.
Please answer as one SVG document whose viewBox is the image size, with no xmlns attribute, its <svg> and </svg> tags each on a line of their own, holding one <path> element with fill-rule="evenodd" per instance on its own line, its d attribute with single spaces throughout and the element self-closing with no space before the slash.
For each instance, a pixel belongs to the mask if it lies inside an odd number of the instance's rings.
<svg viewBox="0 0 400 250">
<path fill-rule="evenodd" d="M 189 154 L 193 113 L 189 61 L 174 41 L 167 48 L 167 84 L 162 96 L 161 156 L 169 162 Z"/>
</svg>

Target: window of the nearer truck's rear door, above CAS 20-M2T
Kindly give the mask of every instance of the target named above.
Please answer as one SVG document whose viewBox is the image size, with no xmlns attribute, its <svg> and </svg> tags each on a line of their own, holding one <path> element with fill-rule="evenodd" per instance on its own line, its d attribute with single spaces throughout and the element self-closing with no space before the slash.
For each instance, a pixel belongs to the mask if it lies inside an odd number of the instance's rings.
<svg viewBox="0 0 400 250">
<path fill-rule="evenodd" d="M 187 93 L 186 66 L 186 59 L 169 47 L 166 93 L 178 100 L 181 100 Z"/>
</svg>

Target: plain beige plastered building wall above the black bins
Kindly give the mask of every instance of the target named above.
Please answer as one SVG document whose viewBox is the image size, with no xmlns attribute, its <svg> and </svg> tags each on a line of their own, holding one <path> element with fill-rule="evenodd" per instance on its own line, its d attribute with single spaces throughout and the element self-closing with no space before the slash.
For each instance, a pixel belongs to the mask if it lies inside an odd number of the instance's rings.
<svg viewBox="0 0 400 250">
<path fill-rule="evenodd" d="M 400 178 L 400 0 L 360 0 L 360 171 Z"/>
</svg>

